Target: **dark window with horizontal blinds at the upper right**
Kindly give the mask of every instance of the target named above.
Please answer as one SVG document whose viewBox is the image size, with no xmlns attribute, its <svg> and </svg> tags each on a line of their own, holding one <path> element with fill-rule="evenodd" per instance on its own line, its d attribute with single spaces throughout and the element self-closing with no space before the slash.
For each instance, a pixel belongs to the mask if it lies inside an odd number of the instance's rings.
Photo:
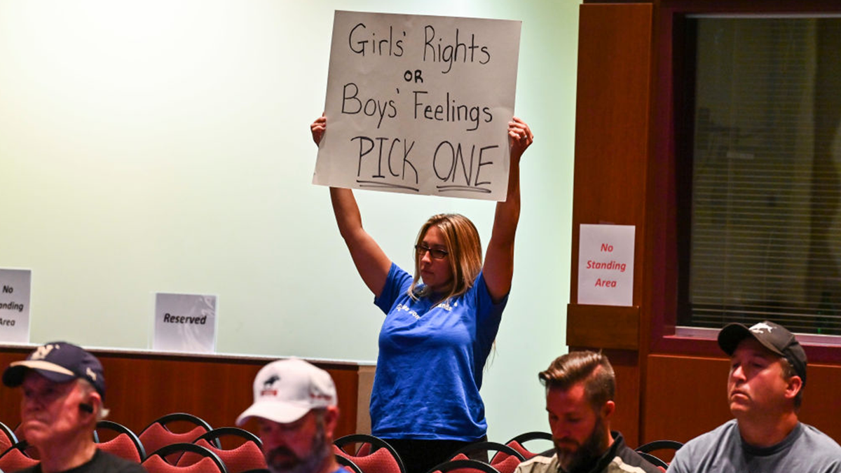
<svg viewBox="0 0 841 473">
<path fill-rule="evenodd" d="M 679 325 L 769 319 L 841 335 L 841 18 L 687 24 L 695 113 L 692 156 L 678 157 L 692 169 Z"/>
</svg>

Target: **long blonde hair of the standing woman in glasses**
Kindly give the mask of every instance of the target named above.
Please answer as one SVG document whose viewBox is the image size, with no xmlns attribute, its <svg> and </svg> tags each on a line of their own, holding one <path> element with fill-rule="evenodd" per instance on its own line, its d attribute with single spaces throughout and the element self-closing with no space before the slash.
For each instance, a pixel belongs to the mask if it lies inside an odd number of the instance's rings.
<svg viewBox="0 0 841 473">
<path fill-rule="evenodd" d="M 440 300 L 443 301 L 463 295 L 473 287 L 473 282 L 482 271 L 482 242 L 479 241 L 479 231 L 476 231 L 476 226 L 464 215 L 437 214 L 432 215 L 421 226 L 416 244 L 420 245 L 423 242 L 426 231 L 429 231 L 432 226 L 436 226 L 444 236 L 452 272 L 452 285 Z M 417 289 L 418 281 L 421 279 L 420 261 L 421 258 L 415 252 L 415 279 L 409 287 L 409 296 L 414 300 L 431 294 L 427 286 Z"/>
</svg>

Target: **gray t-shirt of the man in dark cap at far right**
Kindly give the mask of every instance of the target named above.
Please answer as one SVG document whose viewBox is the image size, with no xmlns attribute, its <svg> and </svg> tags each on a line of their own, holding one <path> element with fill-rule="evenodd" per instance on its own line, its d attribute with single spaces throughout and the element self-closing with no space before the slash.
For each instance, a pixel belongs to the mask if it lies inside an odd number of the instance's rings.
<svg viewBox="0 0 841 473">
<path fill-rule="evenodd" d="M 805 423 L 779 444 L 744 442 L 733 419 L 693 438 L 674 454 L 669 473 L 841 473 L 841 447 Z"/>
</svg>

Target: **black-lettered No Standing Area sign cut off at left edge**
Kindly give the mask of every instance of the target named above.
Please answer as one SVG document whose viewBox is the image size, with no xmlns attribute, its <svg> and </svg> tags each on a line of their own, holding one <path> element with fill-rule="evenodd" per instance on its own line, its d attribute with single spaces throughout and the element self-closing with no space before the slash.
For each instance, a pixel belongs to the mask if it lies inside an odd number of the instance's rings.
<svg viewBox="0 0 841 473">
<path fill-rule="evenodd" d="M 0 269 L 0 342 L 29 343 L 32 271 Z"/>
</svg>

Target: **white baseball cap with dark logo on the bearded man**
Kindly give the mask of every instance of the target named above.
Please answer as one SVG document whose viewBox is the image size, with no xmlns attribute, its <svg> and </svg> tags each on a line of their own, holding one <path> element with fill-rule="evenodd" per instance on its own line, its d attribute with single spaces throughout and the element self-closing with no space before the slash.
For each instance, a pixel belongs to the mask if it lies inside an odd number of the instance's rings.
<svg viewBox="0 0 841 473">
<path fill-rule="evenodd" d="M 294 423 L 311 409 L 329 406 L 336 406 L 336 385 L 329 373 L 303 359 L 281 359 L 257 373 L 254 404 L 236 417 L 236 425 L 251 417 Z"/>
</svg>

